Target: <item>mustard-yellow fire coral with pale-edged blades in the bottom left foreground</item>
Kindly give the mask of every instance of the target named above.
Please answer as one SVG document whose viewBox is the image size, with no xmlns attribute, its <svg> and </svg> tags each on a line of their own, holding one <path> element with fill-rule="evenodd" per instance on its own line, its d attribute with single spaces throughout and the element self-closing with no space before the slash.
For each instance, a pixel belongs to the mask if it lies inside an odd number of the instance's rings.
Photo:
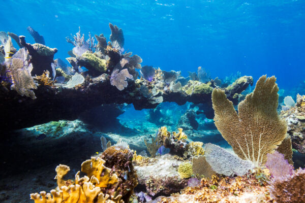
<svg viewBox="0 0 305 203">
<path fill-rule="evenodd" d="M 75 184 L 72 181 L 64 181 L 63 177 L 70 171 L 67 165 L 56 167 L 56 179 L 58 190 L 51 190 L 50 193 L 42 191 L 32 193 L 31 199 L 35 203 L 94 203 L 97 198 L 98 203 L 124 203 L 122 195 L 104 194 L 103 188 L 115 185 L 118 182 L 117 175 L 110 176 L 111 169 L 104 166 L 105 161 L 100 157 L 92 157 L 82 163 L 82 172 L 87 176 L 79 177 L 75 175 Z"/>
</svg>

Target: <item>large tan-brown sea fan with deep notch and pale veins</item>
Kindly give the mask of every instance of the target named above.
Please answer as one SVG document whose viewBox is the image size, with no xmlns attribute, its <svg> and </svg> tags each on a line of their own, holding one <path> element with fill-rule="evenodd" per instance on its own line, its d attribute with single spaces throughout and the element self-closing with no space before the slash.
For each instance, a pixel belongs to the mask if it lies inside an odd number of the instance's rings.
<svg viewBox="0 0 305 203">
<path fill-rule="evenodd" d="M 276 78 L 260 77 L 253 93 L 238 105 L 238 115 L 223 90 L 212 93 L 215 124 L 234 152 L 256 166 L 266 162 L 284 140 L 287 131 L 285 121 L 277 114 L 278 85 Z"/>
</svg>

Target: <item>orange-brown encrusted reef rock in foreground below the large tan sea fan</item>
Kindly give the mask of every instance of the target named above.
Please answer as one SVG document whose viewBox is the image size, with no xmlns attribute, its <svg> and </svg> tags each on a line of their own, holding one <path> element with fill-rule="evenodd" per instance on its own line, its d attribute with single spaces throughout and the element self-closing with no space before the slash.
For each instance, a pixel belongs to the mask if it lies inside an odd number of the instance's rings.
<svg viewBox="0 0 305 203">
<path fill-rule="evenodd" d="M 213 175 L 201 179 L 199 187 L 187 187 L 169 197 L 158 197 L 155 202 L 272 202 L 267 185 L 261 186 L 256 174 L 234 178 Z M 153 202 L 153 201 L 150 201 Z"/>
</svg>

